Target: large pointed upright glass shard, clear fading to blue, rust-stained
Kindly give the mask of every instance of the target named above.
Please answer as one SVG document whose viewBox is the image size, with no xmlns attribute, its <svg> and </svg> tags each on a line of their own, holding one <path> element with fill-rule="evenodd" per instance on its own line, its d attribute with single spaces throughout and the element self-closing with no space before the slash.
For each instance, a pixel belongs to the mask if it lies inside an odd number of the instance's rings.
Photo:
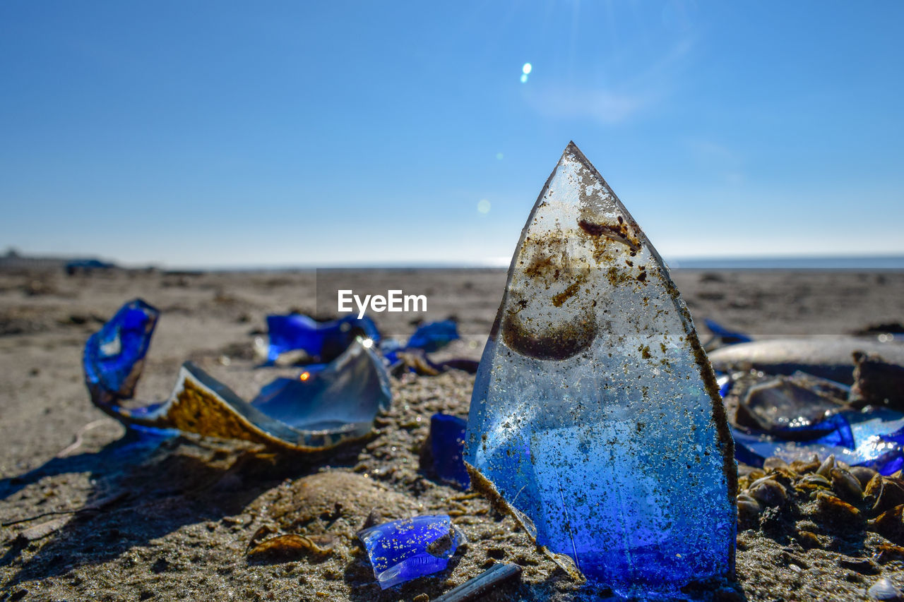
<svg viewBox="0 0 904 602">
<path fill-rule="evenodd" d="M 465 459 L 476 489 L 591 584 L 669 595 L 733 570 L 713 372 L 662 259 L 574 144 L 515 250 Z"/>
</svg>

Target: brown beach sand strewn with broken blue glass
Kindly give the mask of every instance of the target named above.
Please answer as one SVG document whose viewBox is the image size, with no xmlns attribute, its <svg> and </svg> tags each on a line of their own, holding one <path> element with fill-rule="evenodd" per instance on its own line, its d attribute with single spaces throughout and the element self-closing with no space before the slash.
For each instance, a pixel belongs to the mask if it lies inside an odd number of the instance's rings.
<svg viewBox="0 0 904 602">
<path fill-rule="evenodd" d="M 407 336 L 414 318 L 455 315 L 463 339 L 440 357 L 479 359 L 504 276 L 489 269 L 0 273 L 0 522 L 95 508 L 0 527 L 0 599 L 420 601 L 497 561 L 521 564 L 523 584 L 487 599 L 568 599 L 570 579 L 511 519 L 421 469 L 429 417 L 439 410 L 466 416 L 471 375 L 395 379 L 393 407 L 378 419 L 375 436 L 315 460 L 189 437 L 129 445 L 82 383 L 89 334 L 142 296 L 163 311 L 142 400 L 165 399 L 187 359 L 250 397 L 279 372 L 253 368 L 254 340 L 266 338 L 264 316 L 292 308 L 327 313 L 325 291 L 350 278 L 356 286 L 428 296 L 426 314 L 374 315 L 384 333 Z M 902 272 L 676 270 L 673 277 L 698 324 L 711 317 L 758 336 L 848 334 L 904 319 Z M 309 476 L 318 473 L 326 475 Z M 381 591 L 353 537 L 371 510 L 381 520 L 451 513 L 469 544 L 444 573 Z M 42 537 L 40 529 L 24 532 L 44 523 Z M 248 559 L 256 533 L 289 531 L 331 532 L 336 545 L 325 557 Z M 883 542 L 861 532 L 804 550 L 776 532 L 743 531 L 738 580 L 715 597 L 868 599 L 866 588 L 880 577 L 904 587 L 900 560 L 871 560 Z"/>
</svg>

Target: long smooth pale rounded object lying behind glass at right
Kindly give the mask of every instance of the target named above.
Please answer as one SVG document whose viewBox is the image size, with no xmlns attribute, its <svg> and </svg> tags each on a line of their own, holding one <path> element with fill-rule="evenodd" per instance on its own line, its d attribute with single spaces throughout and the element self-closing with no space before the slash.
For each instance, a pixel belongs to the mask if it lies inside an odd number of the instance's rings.
<svg viewBox="0 0 904 602">
<path fill-rule="evenodd" d="M 873 353 L 885 362 L 904 366 L 904 344 L 879 343 L 855 336 L 771 339 L 721 347 L 710 353 L 712 367 L 730 372 L 735 367 L 767 374 L 806 372 L 830 381 L 852 384 L 853 353 Z"/>
</svg>

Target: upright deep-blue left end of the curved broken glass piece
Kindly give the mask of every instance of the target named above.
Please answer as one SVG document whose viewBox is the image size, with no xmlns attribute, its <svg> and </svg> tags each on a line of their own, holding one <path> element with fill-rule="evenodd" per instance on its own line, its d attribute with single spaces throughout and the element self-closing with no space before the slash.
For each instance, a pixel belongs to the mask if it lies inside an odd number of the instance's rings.
<svg viewBox="0 0 904 602">
<path fill-rule="evenodd" d="M 159 315 L 141 299 L 129 301 L 85 343 L 85 384 L 99 406 L 134 394 Z"/>
</svg>

